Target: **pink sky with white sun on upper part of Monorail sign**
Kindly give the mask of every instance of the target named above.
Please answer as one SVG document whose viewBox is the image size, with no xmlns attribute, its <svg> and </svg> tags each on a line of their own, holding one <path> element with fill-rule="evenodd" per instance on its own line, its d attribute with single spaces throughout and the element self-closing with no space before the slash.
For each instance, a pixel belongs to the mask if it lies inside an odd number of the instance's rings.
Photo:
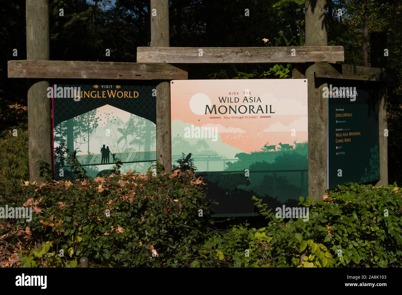
<svg viewBox="0 0 402 295">
<path fill-rule="evenodd" d="M 222 142 L 245 153 L 261 151 L 267 142 L 278 148 L 279 142 L 294 145 L 294 140 L 298 143 L 308 140 L 306 79 L 173 80 L 170 86 L 172 121 L 217 127 Z M 227 100 L 221 103 L 218 97 L 231 98 L 232 102 Z M 254 102 L 258 97 L 260 102 Z M 239 102 L 235 103 L 235 98 Z M 217 114 L 205 114 L 207 104 L 209 108 L 215 104 Z M 268 114 L 262 114 L 261 111 L 258 114 L 219 114 L 218 107 L 221 105 L 228 110 L 229 106 L 244 105 L 248 109 L 252 105 L 254 112 L 259 105 L 265 112 L 265 106 L 268 105 Z M 275 113 L 269 113 L 270 105 Z M 292 136 L 292 129 L 295 130 L 295 136 Z M 183 136 L 184 130 L 176 131 Z"/>
</svg>

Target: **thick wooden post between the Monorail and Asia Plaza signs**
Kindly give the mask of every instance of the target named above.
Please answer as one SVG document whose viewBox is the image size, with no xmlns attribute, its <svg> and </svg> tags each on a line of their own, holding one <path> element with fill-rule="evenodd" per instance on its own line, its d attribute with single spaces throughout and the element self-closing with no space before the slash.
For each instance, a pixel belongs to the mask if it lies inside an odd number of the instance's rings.
<svg viewBox="0 0 402 295">
<path fill-rule="evenodd" d="M 326 0 L 306 0 L 306 46 L 327 46 Z M 314 63 L 306 63 L 308 79 L 308 196 L 322 199 L 327 188 L 328 98 L 315 78 Z M 297 131 L 297 130 L 296 130 Z"/>
</svg>

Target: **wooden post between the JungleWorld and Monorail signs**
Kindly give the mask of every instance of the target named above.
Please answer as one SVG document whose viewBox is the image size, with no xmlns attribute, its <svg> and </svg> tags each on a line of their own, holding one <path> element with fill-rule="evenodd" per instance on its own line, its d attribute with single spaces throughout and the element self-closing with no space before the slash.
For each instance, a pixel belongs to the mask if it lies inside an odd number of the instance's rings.
<svg viewBox="0 0 402 295">
<path fill-rule="evenodd" d="M 169 0 L 150 0 L 151 46 L 169 47 Z M 165 171 L 172 170 L 170 136 L 170 82 L 156 86 L 156 157 Z"/>
</svg>

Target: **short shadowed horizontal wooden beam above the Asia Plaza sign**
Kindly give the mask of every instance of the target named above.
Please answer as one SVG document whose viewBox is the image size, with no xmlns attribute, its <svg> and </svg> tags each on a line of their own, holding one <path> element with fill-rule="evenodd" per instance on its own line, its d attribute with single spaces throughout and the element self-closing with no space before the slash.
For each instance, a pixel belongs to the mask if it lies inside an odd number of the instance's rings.
<svg viewBox="0 0 402 295">
<path fill-rule="evenodd" d="M 393 82 L 395 77 L 389 69 L 339 65 L 333 63 L 315 63 L 316 77 L 331 79 L 349 79 L 377 82 Z"/>
</svg>

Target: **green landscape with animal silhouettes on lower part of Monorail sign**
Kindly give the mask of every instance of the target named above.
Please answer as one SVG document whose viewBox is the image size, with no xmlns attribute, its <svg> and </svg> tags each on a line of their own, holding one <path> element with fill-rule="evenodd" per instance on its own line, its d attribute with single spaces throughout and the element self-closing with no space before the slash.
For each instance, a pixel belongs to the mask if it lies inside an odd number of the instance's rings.
<svg viewBox="0 0 402 295">
<path fill-rule="evenodd" d="M 205 140 L 191 145 L 184 138 L 172 140 L 172 150 L 189 150 L 186 160 L 195 163 L 221 162 L 223 171 L 199 171 L 206 183 L 204 189 L 213 205 L 215 216 L 256 216 L 259 210 L 251 199 L 263 199 L 273 210 L 283 204 L 296 206 L 299 196 L 308 194 L 308 142 L 279 144 L 267 142 L 260 151 L 236 153 L 233 159 L 213 153 Z M 195 154 L 195 155 L 193 155 Z M 180 155 L 172 155 L 173 168 Z M 180 161 L 180 160 L 179 160 Z M 182 161 L 183 162 L 183 161 Z M 206 165 L 208 167 L 208 164 Z M 205 167 L 205 165 L 203 165 Z"/>
</svg>

